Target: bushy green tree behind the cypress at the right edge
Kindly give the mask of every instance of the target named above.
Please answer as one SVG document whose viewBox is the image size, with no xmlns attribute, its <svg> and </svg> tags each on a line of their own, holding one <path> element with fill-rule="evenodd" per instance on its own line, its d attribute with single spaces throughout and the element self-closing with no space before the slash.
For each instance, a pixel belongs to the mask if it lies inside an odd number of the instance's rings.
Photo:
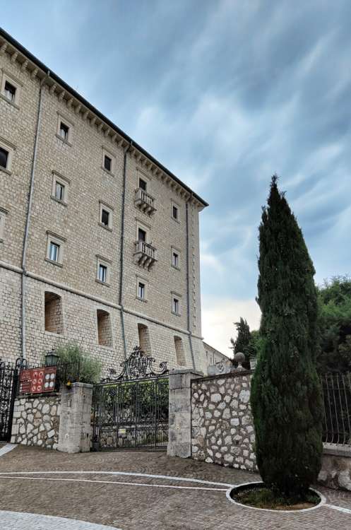
<svg viewBox="0 0 351 530">
<path fill-rule="evenodd" d="M 335 276 L 318 290 L 321 373 L 351 370 L 351 278 Z"/>
</svg>

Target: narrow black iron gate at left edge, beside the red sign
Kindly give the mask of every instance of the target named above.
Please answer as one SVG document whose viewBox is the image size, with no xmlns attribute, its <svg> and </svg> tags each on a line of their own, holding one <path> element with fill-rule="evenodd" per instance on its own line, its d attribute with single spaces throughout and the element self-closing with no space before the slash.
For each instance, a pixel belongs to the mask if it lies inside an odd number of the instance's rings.
<svg viewBox="0 0 351 530">
<path fill-rule="evenodd" d="M 24 367 L 23 359 L 17 359 L 15 365 L 0 359 L 0 441 L 8 442 L 11 439 L 18 374 Z"/>
</svg>

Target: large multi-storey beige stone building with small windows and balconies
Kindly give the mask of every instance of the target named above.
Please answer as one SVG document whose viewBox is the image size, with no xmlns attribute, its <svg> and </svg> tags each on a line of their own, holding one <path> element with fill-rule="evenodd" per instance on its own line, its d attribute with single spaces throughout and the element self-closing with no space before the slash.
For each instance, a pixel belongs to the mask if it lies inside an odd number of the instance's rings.
<svg viewBox="0 0 351 530">
<path fill-rule="evenodd" d="M 3 30 L 0 83 L 0 357 L 205 370 L 206 202 Z"/>
</svg>

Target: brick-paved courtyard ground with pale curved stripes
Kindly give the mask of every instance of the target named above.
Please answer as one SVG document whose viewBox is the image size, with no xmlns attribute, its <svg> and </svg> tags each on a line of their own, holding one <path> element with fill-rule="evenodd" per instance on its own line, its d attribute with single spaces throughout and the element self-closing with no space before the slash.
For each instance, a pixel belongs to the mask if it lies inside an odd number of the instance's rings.
<svg viewBox="0 0 351 530">
<path fill-rule="evenodd" d="M 351 528 L 351 493 L 319 487 L 326 504 L 299 513 L 252 510 L 227 499 L 230 485 L 255 480 L 258 475 L 254 473 L 170 458 L 165 452 L 64 454 L 18 446 L 0 457 L 0 510 L 4 510 L 0 512 L 0 528 L 102 530 L 104 527 L 100 525 L 107 525 L 109 530 L 111 527 L 121 530 Z M 18 512 L 26 513 L 21 516 Z M 54 517 L 38 519 L 35 514 L 76 519 L 81 523 L 62 522 Z M 36 526 L 30 526 L 33 521 Z"/>
</svg>

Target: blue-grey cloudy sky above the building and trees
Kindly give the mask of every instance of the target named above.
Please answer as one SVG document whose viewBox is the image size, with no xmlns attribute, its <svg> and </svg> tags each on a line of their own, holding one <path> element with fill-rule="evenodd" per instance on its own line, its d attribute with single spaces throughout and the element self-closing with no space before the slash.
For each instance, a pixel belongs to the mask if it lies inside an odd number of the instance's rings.
<svg viewBox="0 0 351 530">
<path fill-rule="evenodd" d="M 0 25 L 210 203 L 203 334 L 259 323 L 270 175 L 316 281 L 351 272 L 350 0 L 0 0 Z"/>
</svg>

